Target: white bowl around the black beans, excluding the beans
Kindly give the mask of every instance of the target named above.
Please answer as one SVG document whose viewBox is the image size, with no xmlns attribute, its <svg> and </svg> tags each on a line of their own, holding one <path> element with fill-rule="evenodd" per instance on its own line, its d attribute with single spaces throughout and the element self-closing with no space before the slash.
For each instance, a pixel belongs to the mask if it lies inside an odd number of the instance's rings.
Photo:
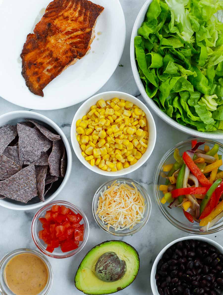
<svg viewBox="0 0 223 295">
<path fill-rule="evenodd" d="M 163 248 L 163 250 L 160 251 L 160 253 L 157 255 L 157 257 L 153 263 L 153 267 L 151 270 L 151 276 L 150 276 L 150 283 L 151 283 L 151 289 L 152 289 L 153 295 L 159 295 L 159 292 L 158 292 L 157 286 L 156 286 L 156 280 L 155 280 L 156 267 L 157 267 L 159 260 L 161 259 L 164 252 L 170 246 L 176 244 L 177 242 L 184 241 L 184 240 L 201 240 L 201 241 L 204 241 L 204 242 L 207 242 L 207 243 L 213 245 L 214 247 L 216 247 L 219 250 L 220 253 L 223 253 L 223 247 L 220 244 L 218 244 L 218 243 L 214 242 L 213 240 L 208 239 L 206 237 L 201 237 L 201 236 L 182 237 L 180 239 L 170 242 L 166 247 Z"/>
</svg>

